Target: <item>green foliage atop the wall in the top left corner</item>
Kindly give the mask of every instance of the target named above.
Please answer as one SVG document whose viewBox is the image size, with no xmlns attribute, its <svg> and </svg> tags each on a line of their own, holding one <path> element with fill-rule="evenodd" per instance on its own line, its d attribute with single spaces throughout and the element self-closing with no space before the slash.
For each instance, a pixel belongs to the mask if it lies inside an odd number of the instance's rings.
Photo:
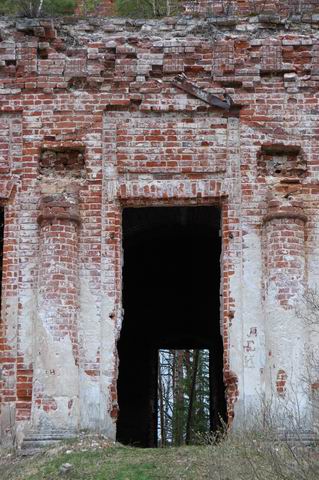
<svg viewBox="0 0 319 480">
<path fill-rule="evenodd" d="M 45 15 L 71 15 L 75 0 L 0 0 L 0 15 L 39 17 Z"/>
</svg>

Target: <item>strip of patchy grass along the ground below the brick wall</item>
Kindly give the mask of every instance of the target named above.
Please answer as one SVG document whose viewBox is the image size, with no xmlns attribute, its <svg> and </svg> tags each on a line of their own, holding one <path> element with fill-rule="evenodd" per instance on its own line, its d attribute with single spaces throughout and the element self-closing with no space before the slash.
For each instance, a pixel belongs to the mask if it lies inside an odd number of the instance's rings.
<svg viewBox="0 0 319 480">
<path fill-rule="evenodd" d="M 62 472 L 67 463 L 71 468 Z M 318 445 L 291 445 L 259 432 L 165 449 L 88 436 L 32 458 L 0 459 L 1 480 L 318 480 L 318 472 Z"/>
</svg>

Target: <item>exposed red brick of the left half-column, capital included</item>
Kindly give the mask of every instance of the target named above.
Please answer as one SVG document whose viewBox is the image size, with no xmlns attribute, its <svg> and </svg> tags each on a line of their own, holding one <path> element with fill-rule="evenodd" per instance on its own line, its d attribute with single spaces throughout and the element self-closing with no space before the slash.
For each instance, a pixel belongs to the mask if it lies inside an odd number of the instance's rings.
<svg viewBox="0 0 319 480">
<path fill-rule="evenodd" d="M 79 309 L 78 225 L 80 215 L 74 193 L 41 198 L 39 300 L 48 331 L 54 340 L 68 335 L 78 363 Z M 44 309 L 44 312 L 41 312 Z"/>
</svg>

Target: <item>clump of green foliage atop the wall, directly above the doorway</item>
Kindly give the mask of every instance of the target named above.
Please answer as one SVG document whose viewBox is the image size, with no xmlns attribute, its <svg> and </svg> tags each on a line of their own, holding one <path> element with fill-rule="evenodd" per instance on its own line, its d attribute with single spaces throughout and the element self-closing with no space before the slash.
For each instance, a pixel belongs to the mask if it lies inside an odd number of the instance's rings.
<svg viewBox="0 0 319 480">
<path fill-rule="evenodd" d="M 131 18 L 156 18 L 177 15 L 181 9 L 178 0 L 117 0 L 116 13 Z"/>
</svg>

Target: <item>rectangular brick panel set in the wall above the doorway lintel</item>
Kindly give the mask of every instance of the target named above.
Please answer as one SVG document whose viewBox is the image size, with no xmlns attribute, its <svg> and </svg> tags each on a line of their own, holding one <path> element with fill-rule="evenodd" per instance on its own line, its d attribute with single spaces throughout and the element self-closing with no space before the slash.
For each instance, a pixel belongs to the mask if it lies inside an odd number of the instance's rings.
<svg viewBox="0 0 319 480">
<path fill-rule="evenodd" d="M 119 173 L 196 173 L 226 171 L 227 119 L 207 113 L 191 115 L 110 113 L 116 122 L 106 131 L 116 140 Z M 110 145 L 111 147 L 111 145 Z M 215 154 L 213 152 L 216 152 Z"/>
</svg>

